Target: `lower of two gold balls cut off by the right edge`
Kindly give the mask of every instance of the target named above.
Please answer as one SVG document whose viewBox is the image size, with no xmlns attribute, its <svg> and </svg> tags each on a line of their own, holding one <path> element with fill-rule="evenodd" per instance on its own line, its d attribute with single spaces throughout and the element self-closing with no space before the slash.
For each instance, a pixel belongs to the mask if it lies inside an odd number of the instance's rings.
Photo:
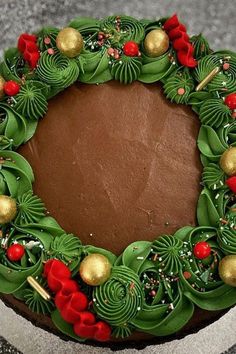
<svg viewBox="0 0 236 354">
<path fill-rule="evenodd" d="M 219 275 L 225 284 L 236 287 L 236 254 L 226 256 L 220 261 Z"/>
</svg>

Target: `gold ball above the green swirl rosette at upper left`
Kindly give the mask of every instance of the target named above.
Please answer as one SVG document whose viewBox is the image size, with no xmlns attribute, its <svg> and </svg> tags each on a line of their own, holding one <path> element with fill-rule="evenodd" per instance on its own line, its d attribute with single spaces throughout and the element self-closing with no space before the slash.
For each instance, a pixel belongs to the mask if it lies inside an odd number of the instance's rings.
<svg viewBox="0 0 236 354">
<path fill-rule="evenodd" d="M 80 54 L 83 45 L 82 35 L 72 27 L 63 28 L 56 38 L 57 48 L 68 58 L 77 57 Z"/>
</svg>

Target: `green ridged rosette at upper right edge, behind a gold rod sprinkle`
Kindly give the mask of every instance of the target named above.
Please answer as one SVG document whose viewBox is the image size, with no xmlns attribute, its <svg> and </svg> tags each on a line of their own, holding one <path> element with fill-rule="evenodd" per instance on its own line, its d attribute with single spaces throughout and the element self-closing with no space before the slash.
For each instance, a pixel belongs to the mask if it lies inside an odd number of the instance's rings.
<svg viewBox="0 0 236 354">
<path fill-rule="evenodd" d="M 227 63 L 224 69 L 223 63 Z M 236 57 L 229 51 L 215 52 L 207 55 L 198 62 L 194 77 L 197 82 L 201 82 L 212 70 L 222 67 L 221 70 L 205 87 L 207 91 L 218 91 L 220 93 L 230 93 L 236 91 Z"/>
</svg>

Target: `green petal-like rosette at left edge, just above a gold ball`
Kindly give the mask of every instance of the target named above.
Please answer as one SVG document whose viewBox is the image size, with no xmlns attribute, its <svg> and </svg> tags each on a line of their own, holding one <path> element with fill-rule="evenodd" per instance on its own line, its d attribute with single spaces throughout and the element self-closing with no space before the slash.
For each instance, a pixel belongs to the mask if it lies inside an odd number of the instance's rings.
<svg viewBox="0 0 236 354">
<path fill-rule="evenodd" d="M 17 197 L 32 190 L 34 175 L 29 163 L 13 151 L 0 151 L 0 194 Z"/>
</svg>

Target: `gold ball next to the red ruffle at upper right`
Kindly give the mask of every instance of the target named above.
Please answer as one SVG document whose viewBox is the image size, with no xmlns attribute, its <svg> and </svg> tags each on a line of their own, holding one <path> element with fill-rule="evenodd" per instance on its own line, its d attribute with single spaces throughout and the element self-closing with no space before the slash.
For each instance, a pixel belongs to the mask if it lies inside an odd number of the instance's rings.
<svg viewBox="0 0 236 354">
<path fill-rule="evenodd" d="M 144 39 L 144 48 L 149 57 L 164 54 L 169 48 L 169 37 L 161 28 L 150 31 Z"/>
</svg>

